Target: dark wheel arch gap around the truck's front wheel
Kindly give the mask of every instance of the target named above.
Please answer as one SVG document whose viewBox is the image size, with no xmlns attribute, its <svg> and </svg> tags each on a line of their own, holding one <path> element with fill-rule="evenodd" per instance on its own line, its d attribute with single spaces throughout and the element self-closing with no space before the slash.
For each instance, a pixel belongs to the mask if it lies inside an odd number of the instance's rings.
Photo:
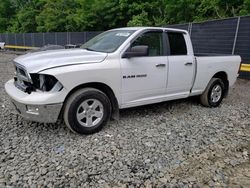
<svg viewBox="0 0 250 188">
<path fill-rule="evenodd" d="M 74 92 L 76 92 L 79 89 L 88 88 L 88 87 L 89 88 L 98 89 L 98 90 L 102 91 L 103 93 L 105 93 L 107 95 L 107 97 L 109 98 L 109 100 L 111 102 L 111 107 L 112 107 L 111 118 L 115 119 L 115 120 L 118 120 L 119 119 L 119 105 L 118 105 L 118 100 L 117 100 L 117 98 L 116 98 L 113 90 L 111 89 L 111 87 L 109 87 L 107 84 L 104 84 L 104 83 L 101 83 L 101 82 L 89 82 L 89 83 L 80 84 L 80 85 L 74 87 L 67 94 L 67 96 L 66 96 L 66 98 L 64 100 L 64 105 L 65 105 L 66 101 L 68 100 L 68 98 Z"/>
</svg>

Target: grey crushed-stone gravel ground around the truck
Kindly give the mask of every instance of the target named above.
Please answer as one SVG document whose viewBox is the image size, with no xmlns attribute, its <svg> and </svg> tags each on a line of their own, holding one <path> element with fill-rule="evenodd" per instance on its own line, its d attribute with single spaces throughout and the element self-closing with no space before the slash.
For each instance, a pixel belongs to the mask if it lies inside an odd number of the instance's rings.
<svg viewBox="0 0 250 188">
<path fill-rule="evenodd" d="M 14 113 L 14 57 L 0 52 L 0 187 L 250 187 L 250 81 L 219 108 L 191 98 L 126 109 L 79 136 Z"/>
</svg>

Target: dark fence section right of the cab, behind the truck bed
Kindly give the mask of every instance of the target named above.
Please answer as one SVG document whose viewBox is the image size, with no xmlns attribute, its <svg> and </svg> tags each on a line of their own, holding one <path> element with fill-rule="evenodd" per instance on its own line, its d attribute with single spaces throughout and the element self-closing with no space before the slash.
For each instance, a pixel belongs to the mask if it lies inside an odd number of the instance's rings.
<svg viewBox="0 0 250 188">
<path fill-rule="evenodd" d="M 195 53 L 237 54 L 242 63 L 250 64 L 250 16 L 167 27 L 187 30 Z M 240 77 L 250 79 L 250 72 Z"/>
</svg>

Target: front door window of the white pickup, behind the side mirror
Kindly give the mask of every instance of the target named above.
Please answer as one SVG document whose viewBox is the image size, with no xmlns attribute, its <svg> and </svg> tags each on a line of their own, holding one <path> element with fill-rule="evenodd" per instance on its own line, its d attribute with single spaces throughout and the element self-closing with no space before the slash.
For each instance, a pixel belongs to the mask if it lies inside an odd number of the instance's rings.
<svg viewBox="0 0 250 188">
<path fill-rule="evenodd" d="M 163 55 L 162 32 L 147 32 L 139 36 L 131 45 L 147 45 L 149 48 L 149 56 Z"/>
</svg>

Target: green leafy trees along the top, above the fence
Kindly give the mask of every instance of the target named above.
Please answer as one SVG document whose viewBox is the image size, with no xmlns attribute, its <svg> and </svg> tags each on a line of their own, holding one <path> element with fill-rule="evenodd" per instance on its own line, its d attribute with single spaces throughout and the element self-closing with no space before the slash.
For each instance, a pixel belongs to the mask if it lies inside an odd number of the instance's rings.
<svg viewBox="0 0 250 188">
<path fill-rule="evenodd" d="M 250 0 L 1 0 L 0 32 L 162 26 L 249 13 Z"/>
</svg>

